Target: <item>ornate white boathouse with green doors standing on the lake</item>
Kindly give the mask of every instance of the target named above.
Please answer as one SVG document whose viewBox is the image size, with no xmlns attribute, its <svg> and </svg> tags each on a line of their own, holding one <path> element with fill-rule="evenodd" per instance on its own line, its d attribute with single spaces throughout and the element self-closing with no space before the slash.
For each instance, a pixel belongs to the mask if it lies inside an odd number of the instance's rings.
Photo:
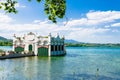
<svg viewBox="0 0 120 80">
<path fill-rule="evenodd" d="M 14 35 L 13 51 L 19 53 L 33 52 L 38 56 L 60 56 L 65 55 L 64 36 L 62 38 L 48 36 L 37 36 L 30 32 L 23 37 Z"/>
</svg>

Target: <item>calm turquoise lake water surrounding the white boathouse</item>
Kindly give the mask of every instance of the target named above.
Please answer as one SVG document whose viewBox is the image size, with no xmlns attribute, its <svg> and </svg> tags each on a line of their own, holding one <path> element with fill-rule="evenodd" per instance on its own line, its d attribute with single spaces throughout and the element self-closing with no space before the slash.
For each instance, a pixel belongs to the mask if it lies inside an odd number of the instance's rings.
<svg viewBox="0 0 120 80">
<path fill-rule="evenodd" d="M 0 60 L 0 80 L 120 80 L 120 48 L 66 50 L 64 57 Z"/>
</svg>

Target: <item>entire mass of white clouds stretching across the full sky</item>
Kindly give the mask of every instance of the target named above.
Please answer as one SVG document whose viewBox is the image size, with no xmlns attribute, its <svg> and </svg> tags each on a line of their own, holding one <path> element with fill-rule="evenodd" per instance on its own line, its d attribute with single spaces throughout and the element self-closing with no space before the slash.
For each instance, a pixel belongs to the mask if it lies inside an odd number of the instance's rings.
<svg viewBox="0 0 120 80">
<path fill-rule="evenodd" d="M 67 39 L 81 42 L 119 42 L 120 36 L 116 35 L 120 33 L 119 29 L 111 29 L 111 26 L 120 25 L 117 22 L 119 19 L 119 11 L 90 11 L 85 17 L 68 21 L 66 26 L 64 22 L 53 24 L 48 20 L 37 19 L 31 23 L 15 24 L 13 18 L 0 13 L 0 36 L 12 38 L 14 33 L 23 35 L 34 32 L 39 35 L 48 35 L 51 32 L 53 35 L 60 33 Z"/>
</svg>

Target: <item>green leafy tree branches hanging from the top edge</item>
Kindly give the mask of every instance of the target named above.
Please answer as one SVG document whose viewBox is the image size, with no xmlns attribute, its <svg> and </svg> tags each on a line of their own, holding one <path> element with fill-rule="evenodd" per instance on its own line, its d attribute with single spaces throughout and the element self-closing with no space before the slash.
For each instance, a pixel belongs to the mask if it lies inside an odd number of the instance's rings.
<svg viewBox="0 0 120 80">
<path fill-rule="evenodd" d="M 28 0 L 32 1 L 32 0 Z M 41 0 L 36 0 L 37 2 L 41 2 Z M 66 0 L 43 0 L 44 4 L 44 12 L 48 16 L 48 19 L 53 23 L 57 23 L 57 18 L 63 18 L 66 11 Z M 6 0 L 4 2 L 0 2 L 0 9 L 4 9 L 6 13 L 17 13 L 18 11 L 15 8 L 15 4 L 17 1 L 15 0 Z"/>
</svg>

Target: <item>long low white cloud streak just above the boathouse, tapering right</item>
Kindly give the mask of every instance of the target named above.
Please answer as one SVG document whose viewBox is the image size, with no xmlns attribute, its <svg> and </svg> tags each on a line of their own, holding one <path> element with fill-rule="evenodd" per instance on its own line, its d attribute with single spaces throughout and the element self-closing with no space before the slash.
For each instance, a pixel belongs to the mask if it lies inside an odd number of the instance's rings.
<svg viewBox="0 0 120 80">
<path fill-rule="evenodd" d="M 75 39 L 75 40 L 84 40 L 95 34 L 104 34 L 109 31 L 109 29 L 103 28 L 81 28 L 81 27 L 69 27 L 62 26 L 49 23 L 47 21 L 41 21 L 39 23 L 30 23 L 30 24 L 9 24 L 3 25 L 4 27 L 0 28 L 0 30 L 4 31 L 2 33 L 9 33 L 9 35 L 15 34 L 26 34 L 27 32 L 35 32 L 40 35 L 48 35 L 50 32 L 55 35 L 56 33 L 60 33 L 61 35 L 65 35 L 67 39 Z M 85 40 L 84 40 L 85 41 Z"/>
</svg>

